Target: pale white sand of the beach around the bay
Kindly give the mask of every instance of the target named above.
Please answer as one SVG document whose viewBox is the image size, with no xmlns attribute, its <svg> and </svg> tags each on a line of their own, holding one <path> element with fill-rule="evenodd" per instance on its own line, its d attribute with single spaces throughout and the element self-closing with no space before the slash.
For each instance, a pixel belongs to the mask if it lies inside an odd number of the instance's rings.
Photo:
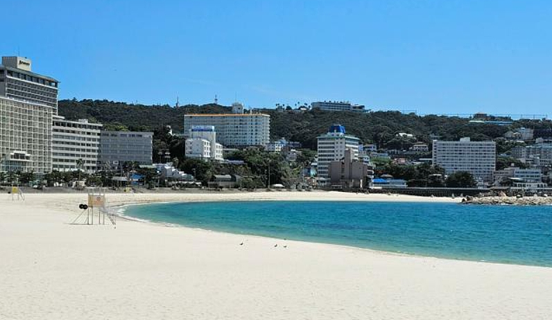
<svg viewBox="0 0 552 320">
<path fill-rule="evenodd" d="M 287 192 L 108 198 L 112 204 L 458 201 Z M 0 319 L 552 317 L 552 268 L 404 256 L 120 219 L 116 229 L 69 224 L 85 199 L 33 194 L 15 202 L 0 194 Z"/>
</svg>

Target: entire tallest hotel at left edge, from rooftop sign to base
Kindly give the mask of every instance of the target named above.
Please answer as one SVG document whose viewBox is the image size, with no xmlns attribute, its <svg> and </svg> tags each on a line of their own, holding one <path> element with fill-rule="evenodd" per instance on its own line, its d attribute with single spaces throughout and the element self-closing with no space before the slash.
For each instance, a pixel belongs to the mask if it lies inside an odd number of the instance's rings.
<svg viewBox="0 0 552 320">
<path fill-rule="evenodd" d="M 2 57 L 0 64 L 0 171 L 52 168 L 52 120 L 58 81 L 31 71 L 31 60 Z"/>
</svg>

